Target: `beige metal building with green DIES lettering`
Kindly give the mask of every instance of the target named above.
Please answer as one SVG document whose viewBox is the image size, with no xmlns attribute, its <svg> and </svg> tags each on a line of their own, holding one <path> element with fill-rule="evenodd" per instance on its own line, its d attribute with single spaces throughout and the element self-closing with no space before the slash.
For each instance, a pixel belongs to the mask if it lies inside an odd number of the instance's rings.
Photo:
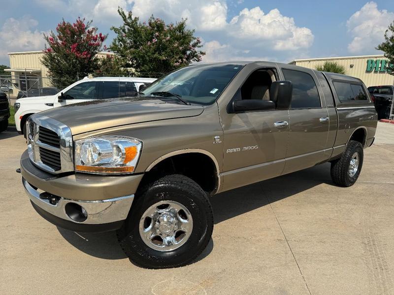
<svg viewBox="0 0 394 295">
<path fill-rule="evenodd" d="M 296 59 L 290 64 L 315 69 L 326 61 L 334 61 L 345 67 L 346 75 L 359 78 L 369 86 L 394 85 L 394 76 L 390 75 L 389 61 L 383 55 L 358 57 Z M 393 66 L 391 68 L 394 68 Z"/>
</svg>

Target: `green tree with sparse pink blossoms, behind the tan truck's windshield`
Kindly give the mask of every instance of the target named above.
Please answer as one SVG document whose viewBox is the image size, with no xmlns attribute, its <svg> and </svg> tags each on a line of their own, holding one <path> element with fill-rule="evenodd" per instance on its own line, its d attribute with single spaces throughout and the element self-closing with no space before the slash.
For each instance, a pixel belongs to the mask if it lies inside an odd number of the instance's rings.
<svg viewBox="0 0 394 295">
<path fill-rule="evenodd" d="M 186 28 L 186 20 L 166 25 L 154 18 L 141 23 L 131 11 L 118 8 L 123 25 L 112 27 L 116 37 L 110 49 L 117 55 L 122 68 L 132 68 L 141 76 L 161 76 L 179 67 L 201 60 L 201 40 L 194 30 Z"/>
</svg>

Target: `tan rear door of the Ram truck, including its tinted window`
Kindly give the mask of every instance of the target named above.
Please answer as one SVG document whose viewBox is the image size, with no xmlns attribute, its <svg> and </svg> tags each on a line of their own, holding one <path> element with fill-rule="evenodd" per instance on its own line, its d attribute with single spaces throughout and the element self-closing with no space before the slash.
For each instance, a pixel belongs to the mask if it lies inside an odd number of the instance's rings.
<svg viewBox="0 0 394 295">
<path fill-rule="evenodd" d="M 332 147 L 327 146 L 330 116 L 314 71 L 290 66 L 281 70 L 293 83 L 286 174 L 327 160 Z"/>
</svg>

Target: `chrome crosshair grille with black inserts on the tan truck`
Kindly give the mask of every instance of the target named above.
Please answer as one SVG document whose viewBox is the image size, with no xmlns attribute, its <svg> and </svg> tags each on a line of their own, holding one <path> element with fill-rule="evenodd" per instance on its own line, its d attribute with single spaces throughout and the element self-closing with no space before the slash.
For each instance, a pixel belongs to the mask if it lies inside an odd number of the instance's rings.
<svg viewBox="0 0 394 295">
<path fill-rule="evenodd" d="M 29 157 L 37 167 L 53 174 L 74 171 L 71 130 L 39 114 L 27 122 Z"/>
</svg>

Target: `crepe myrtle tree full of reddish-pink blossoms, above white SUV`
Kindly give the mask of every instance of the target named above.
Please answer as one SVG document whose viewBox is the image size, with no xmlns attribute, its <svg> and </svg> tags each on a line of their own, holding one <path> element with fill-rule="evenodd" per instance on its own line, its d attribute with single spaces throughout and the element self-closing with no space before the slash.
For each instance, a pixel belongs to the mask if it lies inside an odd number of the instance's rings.
<svg viewBox="0 0 394 295">
<path fill-rule="evenodd" d="M 92 21 L 78 19 L 71 24 L 63 20 L 56 27 L 56 32 L 44 34 L 48 43 L 45 45 L 42 63 L 49 70 L 53 86 L 63 89 L 99 68 L 100 51 L 107 50 L 103 44 L 107 35 L 97 33 L 91 27 Z"/>
</svg>

